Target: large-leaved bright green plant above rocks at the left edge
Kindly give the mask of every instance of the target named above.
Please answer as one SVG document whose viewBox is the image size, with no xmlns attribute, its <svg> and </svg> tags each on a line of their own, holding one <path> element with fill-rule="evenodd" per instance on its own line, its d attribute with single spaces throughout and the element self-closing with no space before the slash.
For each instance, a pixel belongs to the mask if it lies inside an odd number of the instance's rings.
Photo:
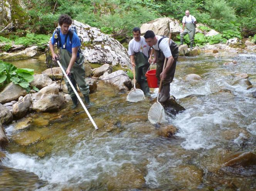
<svg viewBox="0 0 256 191">
<path fill-rule="evenodd" d="M 33 69 L 16 68 L 12 64 L 0 61 L 0 86 L 12 81 L 29 91 L 29 83 L 34 80 L 33 74 Z"/>
</svg>

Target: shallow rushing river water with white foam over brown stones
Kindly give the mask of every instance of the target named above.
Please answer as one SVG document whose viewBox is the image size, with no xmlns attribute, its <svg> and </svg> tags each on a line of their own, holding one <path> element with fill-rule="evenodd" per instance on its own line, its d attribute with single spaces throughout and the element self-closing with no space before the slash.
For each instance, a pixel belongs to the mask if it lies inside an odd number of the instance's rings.
<svg viewBox="0 0 256 191">
<path fill-rule="evenodd" d="M 128 103 L 127 93 L 103 82 L 88 109 L 97 131 L 83 108 L 71 110 L 70 102 L 59 112 L 12 123 L 0 190 L 255 191 L 255 165 L 221 168 L 227 156 L 256 149 L 256 88 L 232 85 L 236 74 L 247 73 L 256 86 L 256 55 L 232 59 L 236 65 L 207 55 L 179 59 L 170 94 L 186 110 L 168 116 L 178 128 L 172 138 L 148 122 L 150 100 Z M 202 80 L 182 80 L 190 73 Z M 22 121 L 29 126 L 19 130 Z"/>
</svg>

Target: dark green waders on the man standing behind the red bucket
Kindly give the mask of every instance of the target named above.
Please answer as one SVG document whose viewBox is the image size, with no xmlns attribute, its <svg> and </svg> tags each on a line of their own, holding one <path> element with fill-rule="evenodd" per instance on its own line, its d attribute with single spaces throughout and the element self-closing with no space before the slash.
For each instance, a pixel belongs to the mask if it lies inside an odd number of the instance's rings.
<svg viewBox="0 0 256 191">
<path fill-rule="evenodd" d="M 135 52 L 135 79 L 140 84 L 141 90 L 145 96 L 149 95 L 149 87 L 147 82 L 147 77 L 145 76 L 150 64 L 148 63 L 148 58 L 142 52 Z"/>
</svg>

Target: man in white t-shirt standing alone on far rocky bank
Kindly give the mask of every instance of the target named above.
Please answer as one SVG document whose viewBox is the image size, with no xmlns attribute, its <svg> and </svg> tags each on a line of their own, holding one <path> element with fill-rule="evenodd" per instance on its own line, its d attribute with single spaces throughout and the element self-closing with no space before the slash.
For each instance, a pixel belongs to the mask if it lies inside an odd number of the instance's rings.
<svg viewBox="0 0 256 191">
<path fill-rule="evenodd" d="M 189 33 L 190 50 L 192 50 L 194 37 L 195 37 L 195 24 L 197 23 L 197 20 L 195 19 L 194 16 L 189 15 L 189 10 L 185 11 L 185 15 L 186 16 L 184 16 L 182 19 L 182 31 L 180 32 L 180 45 L 183 45 L 184 36 L 187 35 L 187 33 Z"/>
</svg>

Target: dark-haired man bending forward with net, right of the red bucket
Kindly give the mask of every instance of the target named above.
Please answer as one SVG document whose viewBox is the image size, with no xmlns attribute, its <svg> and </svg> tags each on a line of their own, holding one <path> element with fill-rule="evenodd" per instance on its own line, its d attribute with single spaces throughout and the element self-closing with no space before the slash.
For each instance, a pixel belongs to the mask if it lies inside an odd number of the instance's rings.
<svg viewBox="0 0 256 191">
<path fill-rule="evenodd" d="M 154 59 L 149 58 L 149 63 L 157 63 L 156 77 L 158 86 L 162 78 L 162 89 L 158 101 L 163 103 L 170 98 L 170 83 L 172 83 L 176 62 L 179 56 L 179 47 L 177 44 L 168 38 L 160 35 L 155 35 L 152 30 L 148 30 L 144 35 L 148 46 L 153 48 Z M 167 58 L 166 67 L 163 70 L 164 60 Z"/>
</svg>

